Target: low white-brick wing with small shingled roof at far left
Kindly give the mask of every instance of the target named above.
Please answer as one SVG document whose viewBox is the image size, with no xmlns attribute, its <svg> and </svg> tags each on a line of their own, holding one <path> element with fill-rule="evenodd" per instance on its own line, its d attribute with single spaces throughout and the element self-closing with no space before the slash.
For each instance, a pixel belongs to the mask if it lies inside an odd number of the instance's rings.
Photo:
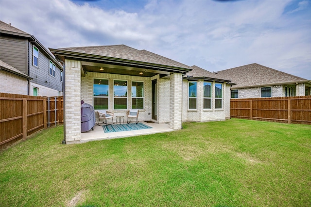
<svg viewBox="0 0 311 207">
<path fill-rule="evenodd" d="M 0 60 L 0 80 L 0 93 L 28 95 L 28 81 L 32 78 Z"/>
</svg>

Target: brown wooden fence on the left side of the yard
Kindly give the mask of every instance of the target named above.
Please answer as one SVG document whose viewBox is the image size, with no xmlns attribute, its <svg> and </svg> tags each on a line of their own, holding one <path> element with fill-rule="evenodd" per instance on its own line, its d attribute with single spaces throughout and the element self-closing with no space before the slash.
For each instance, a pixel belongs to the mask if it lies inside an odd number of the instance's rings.
<svg viewBox="0 0 311 207">
<path fill-rule="evenodd" d="M 0 149 L 36 131 L 63 123 L 63 96 L 0 93 Z"/>
</svg>

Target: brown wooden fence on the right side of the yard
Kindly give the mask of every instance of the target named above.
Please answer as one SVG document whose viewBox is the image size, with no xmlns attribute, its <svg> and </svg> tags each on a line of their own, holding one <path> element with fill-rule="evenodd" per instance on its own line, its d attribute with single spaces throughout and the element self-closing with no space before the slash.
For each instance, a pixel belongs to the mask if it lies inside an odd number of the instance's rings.
<svg viewBox="0 0 311 207">
<path fill-rule="evenodd" d="M 311 124 L 311 96 L 231 99 L 230 116 L 289 124 Z"/>
</svg>

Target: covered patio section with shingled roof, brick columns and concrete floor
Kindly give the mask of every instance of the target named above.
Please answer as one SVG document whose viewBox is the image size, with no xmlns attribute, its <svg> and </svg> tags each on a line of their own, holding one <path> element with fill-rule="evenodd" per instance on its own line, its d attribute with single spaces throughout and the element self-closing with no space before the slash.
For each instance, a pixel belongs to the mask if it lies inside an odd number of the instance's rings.
<svg viewBox="0 0 311 207">
<path fill-rule="evenodd" d="M 51 49 L 64 65 L 64 142 L 81 143 L 182 128 L 182 77 L 190 66 L 125 45 Z M 81 100 L 114 117 L 139 110 L 151 129 L 81 133 Z M 96 115 L 98 120 L 98 115 Z M 97 122 L 96 120 L 96 122 Z M 66 141 L 65 141 L 66 140 Z"/>
</svg>

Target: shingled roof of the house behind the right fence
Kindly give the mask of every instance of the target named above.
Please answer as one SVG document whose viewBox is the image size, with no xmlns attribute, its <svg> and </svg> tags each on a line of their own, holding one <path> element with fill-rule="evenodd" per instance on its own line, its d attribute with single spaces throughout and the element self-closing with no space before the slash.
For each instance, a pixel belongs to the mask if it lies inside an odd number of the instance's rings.
<svg viewBox="0 0 311 207">
<path fill-rule="evenodd" d="M 308 82 L 307 79 L 256 63 L 221 70 L 215 74 L 236 83 L 231 89 Z"/>
</svg>

